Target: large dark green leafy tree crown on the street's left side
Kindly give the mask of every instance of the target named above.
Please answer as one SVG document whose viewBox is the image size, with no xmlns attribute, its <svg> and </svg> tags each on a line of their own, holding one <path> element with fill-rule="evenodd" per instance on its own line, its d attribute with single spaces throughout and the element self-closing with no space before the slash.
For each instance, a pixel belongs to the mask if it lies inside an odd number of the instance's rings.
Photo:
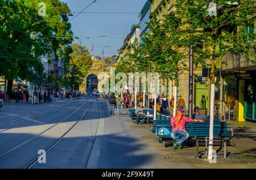
<svg viewBox="0 0 256 180">
<path fill-rule="evenodd" d="M 38 13 L 40 2 L 0 2 L 0 75 L 8 80 L 9 92 L 14 79 L 24 80 L 40 71 L 40 55 L 50 52 L 57 54 L 59 49 L 72 42 L 67 4 L 59 0 L 44 1 L 47 14 L 41 16 Z"/>
</svg>

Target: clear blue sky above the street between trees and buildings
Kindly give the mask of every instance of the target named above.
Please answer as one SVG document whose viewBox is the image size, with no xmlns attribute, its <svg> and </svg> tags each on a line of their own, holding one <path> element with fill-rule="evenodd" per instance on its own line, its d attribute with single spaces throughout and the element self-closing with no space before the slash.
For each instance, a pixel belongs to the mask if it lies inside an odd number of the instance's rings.
<svg viewBox="0 0 256 180">
<path fill-rule="evenodd" d="M 94 0 L 61 0 L 66 2 L 74 16 Z M 133 24 L 139 23 L 139 12 L 147 0 L 97 0 L 83 13 L 70 16 L 72 31 L 88 50 L 94 46 L 94 55 L 109 57 L 118 54 Z M 93 12 L 93 13 L 88 13 Z M 95 13 L 96 12 L 96 13 Z M 117 12 L 118 14 L 98 13 Z M 127 13 L 127 14 L 124 14 Z M 98 37 L 107 36 L 107 37 Z M 89 37 L 89 38 L 88 38 Z M 75 39 L 75 42 L 80 43 Z M 105 46 L 105 47 L 104 47 Z M 106 47 L 109 46 L 109 47 Z M 91 54 L 93 54 L 91 53 Z"/>
</svg>

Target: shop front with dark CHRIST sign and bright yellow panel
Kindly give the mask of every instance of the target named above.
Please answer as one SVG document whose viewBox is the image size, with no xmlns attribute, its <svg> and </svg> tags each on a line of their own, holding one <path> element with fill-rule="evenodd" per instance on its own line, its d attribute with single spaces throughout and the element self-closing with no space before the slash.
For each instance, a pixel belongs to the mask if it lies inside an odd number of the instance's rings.
<svg viewBox="0 0 256 180">
<path fill-rule="evenodd" d="M 255 49 L 254 52 L 256 52 Z M 252 61 L 256 61 L 255 57 L 251 58 L 253 58 Z M 256 64 L 247 61 L 242 55 L 231 53 L 225 55 L 221 61 L 225 63 L 221 63 L 218 70 L 234 72 L 234 79 L 236 79 L 237 89 L 234 95 L 237 102 L 236 121 L 256 122 Z M 221 101 L 225 102 L 225 98 L 222 98 Z"/>
</svg>

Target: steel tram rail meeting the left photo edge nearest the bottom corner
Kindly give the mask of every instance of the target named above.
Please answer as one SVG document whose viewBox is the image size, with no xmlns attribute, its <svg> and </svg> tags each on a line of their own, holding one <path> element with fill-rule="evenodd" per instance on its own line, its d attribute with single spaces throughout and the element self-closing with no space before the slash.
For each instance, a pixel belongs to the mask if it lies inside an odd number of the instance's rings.
<svg viewBox="0 0 256 180">
<path fill-rule="evenodd" d="M 65 119 L 71 117 L 71 115 L 73 115 L 73 114 L 76 113 L 79 109 L 81 109 L 82 106 L 84 106 L 85 104 L 87 104 L 87 101 L 85 101 L 81 106 L 79 106 L 79 108 L 77 108 L 76 110 L 74 110 L 72 113 L 70 113 L 69 115 L 67 115 L 67 116 L 65 116 L 64 118 L 62 118 L 59 122 L 54 123 L 54 125 L 48 127 L 46 130 L 43 130 L 42 132 L 39 132 L 37 135 L 33 136 L 33 137 L 30 138 L 30 139 L 27 139 L 25 142 L 20 143 L 19 145 L 16 145 L 14 148 L 10 149 L 9 151 L 6 151 L 6 152 L 2 153 L 2 154 L 0 155 L 0 160 L 1 160 L 2 157 L 8 155 L 8 154 L 11 153 L 11 152 L 14 152 L 16 149 L 22 147 L 23 145 L 28 144 L 29 142 L 31 142 L 31 141 L 34 140 L 35 138 L 38 138 L 38 136 L 44 134 L 45 132 L 51 130 L 53 127 L 59 125 L 59 124 L 60 124 L 61 122 L 63 122 Z M 89 106 L 88 106 L 88 108 L 89 108 Z M 82 117 L 84 117 L 84 115 L 83 115 Z M 75 125 L 74 125 L 74 126 L 75 126 Z"/>
</svg>

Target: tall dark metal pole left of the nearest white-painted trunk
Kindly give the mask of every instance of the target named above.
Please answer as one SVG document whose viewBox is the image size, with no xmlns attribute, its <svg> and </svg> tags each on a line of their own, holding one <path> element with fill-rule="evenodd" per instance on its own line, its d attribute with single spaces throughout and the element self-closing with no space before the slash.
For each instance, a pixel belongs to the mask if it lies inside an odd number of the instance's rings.
<svg viewBox="0 0 256 180">
<path fill-rule="evenodd" d="M 192 118 L 193 109 L 193 44 L 189 46 L 189 90 L 188 90 L 188 117 Z"/>
</svg>

